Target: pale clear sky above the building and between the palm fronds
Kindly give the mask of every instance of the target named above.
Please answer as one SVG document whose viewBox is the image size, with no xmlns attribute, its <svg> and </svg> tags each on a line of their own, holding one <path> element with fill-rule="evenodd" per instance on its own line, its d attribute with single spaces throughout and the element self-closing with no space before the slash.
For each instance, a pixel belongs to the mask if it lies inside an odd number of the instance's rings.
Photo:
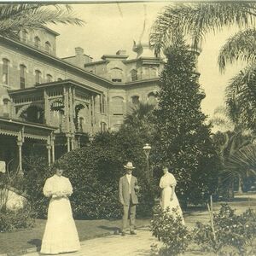
<svg viewBox="0 0 256 256">
<path fill-rule="evenodd" d="M 125 49 L 130 58 L 136 57 L 132 52 L 133 40 L 137 41 L 146 30 L 143 38 L 148 37 L 150 26 L 163 8 L 172 2 L 143 3 L 76 3 L 73 11 L 86 23 L 84 26 L 49 26 L 61 35 L 57 38 L 57 55 L 66 57 L 74 55 L 74 48 L 80 46 L 84 54 L 101 60 L 102 55 L 114 55 L 119 49 Z M 146 14 L 146 15 L 145 15 Z M 224 105 L 224 90 L 229 80 L 239 72 L 240 65 L 228 67 L 224 74 L 219 73 L 218 51 L 230 35 L 237 32 L 230 27 L 215 35 L 209 34 L 202 45 L 198 60 L 201 73 L 201 88 L 206 92 L 201 108 L 210 118 L 214 109 Z"/>
</svg>

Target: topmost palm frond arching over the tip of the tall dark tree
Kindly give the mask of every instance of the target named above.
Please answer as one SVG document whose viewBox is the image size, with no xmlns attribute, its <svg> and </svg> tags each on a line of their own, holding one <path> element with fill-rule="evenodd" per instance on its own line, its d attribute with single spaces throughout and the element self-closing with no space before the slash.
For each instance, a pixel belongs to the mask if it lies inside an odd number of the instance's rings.
<svg viewBox="0 0 256 256">
<path fill-rule="evenodd" d="M 150 44 L 156 55 L 175 40 L 177 30 L 191 38 L 191 46 L 199 49 L 208 32 L 220 31 L 234 24 L 243 27 L 255 22 L 256 4 L 232 3 L 182 3 L 167 6 L 154 21 Z"/>
</svg>

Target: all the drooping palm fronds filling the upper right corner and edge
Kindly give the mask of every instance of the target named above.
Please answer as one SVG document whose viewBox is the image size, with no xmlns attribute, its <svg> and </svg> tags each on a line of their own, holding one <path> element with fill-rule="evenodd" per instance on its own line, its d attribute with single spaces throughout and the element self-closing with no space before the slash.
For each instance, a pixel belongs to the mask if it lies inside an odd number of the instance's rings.
<svg viewBox="0 0 256 256">
<path fill-rule="evenodd" d="M 247 67 L 230 81 L 226 90 L 226 105 L 231 119 L 256 130 L 256 3 L 193 3 L 166 7 L 154 22 L 150 44 L 155 55 L 175 43 L 177 32 L 189 38 L 192 49 L 200 49 L 208 32 L 224 26 L 237 25 L 244 30 L 231 37 L 218 55 L 221 72 L 234 61 L 246 61 Z M 178 29 L 177 29 L 178 28 Z"/>
</svg>

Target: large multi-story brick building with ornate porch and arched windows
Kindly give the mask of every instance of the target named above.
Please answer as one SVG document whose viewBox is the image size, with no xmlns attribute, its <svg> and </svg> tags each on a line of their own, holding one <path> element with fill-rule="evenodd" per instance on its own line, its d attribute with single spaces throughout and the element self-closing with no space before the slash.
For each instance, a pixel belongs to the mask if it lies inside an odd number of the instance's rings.
<svg viewBox="0 0 256 256">
<path fill-rule="evenodd" d="M 44 28 L 0 37 L 0 160 L 22 170 L 22 154 L 44 148 L 49 164 L 98 131 L 117 130 L 138 102 L 156 103 L 162 61 L 145 44 L 93 61 L 84 49 L 56 56 L 58 33 Z M 2 79 L 1 79 L 2 78 Z"/>
</svg>

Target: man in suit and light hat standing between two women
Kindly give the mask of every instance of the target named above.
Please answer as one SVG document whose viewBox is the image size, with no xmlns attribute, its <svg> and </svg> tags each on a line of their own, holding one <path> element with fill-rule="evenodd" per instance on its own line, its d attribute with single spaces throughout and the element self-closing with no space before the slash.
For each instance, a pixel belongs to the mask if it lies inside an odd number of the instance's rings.
<svg viewBox="0 0 256 256">
<path fill-rule="evenodd" d="M 124 207 L 122 236 L 125 236 L 129 212 L 130 234 L 136 235 L 136 231 L 134 229 L 136 205 L 138 204 L 136 192 L 139 189 L 139 186 L 137 185 L 137 177 L 131 175 L 132 170 L 135 169 L 135 167 L 132 166 L 132 162 L 128 162 L 124 167 L 126 174 L 119 179 L 119 202 Z"/>
</svg>

